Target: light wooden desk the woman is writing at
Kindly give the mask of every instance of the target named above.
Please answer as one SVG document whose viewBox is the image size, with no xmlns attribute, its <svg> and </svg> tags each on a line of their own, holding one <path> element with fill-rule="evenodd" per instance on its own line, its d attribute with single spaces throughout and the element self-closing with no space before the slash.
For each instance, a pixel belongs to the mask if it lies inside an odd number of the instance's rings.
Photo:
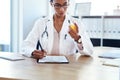
<svg viewBox="0 0 120 80">
<path fill-rule="evenodd" d="M 110 49 L 114 48 L 95 47 L 92 57 L 80 54 L 68 56 L 69 64 L 38 64 L 35 59 L 27 57 L 21 61 L 0 59 L 0 77 L 22 80 L 119 80 L 119 68 L 103 66 L 97 57 L 97 54 Z"/>
</svg>

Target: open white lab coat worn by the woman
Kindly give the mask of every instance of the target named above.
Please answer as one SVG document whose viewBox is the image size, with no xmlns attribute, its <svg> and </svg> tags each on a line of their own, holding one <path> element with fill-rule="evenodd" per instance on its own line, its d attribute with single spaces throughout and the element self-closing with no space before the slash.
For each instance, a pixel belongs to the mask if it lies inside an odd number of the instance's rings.
<svg viewBox="0 0 120 80">
<path fill-rule="evenodd" d="M 71 22 L 76 22 L 79 26 L 79 35 L 81 36 L 82 43 L 83 43 L 83 50 L 79 50 L 78 44 L 74 41 L 74 39 L 69 35 L 69 25 Z M 46 33 L 44 33 L 45 28 Z M 44 33 L 44 35 L 43 35 Z M 60 45 L 59 51 L 60 54 L 74 54 L 76 50 L 83 55 L 91 55 L 93 53 L 93 45 L 86 34 L 85 30 L 83 29 L 83 25 L 81 24 L 80 20 L 74 19 L 66 15 L 64 20 L 62 29 L 60 31 Z M 53 25 L 53 16 L 46 17 L 43 19 L 39 19 L 36 21 L 35 25 L 33 26 L 32 31 L 29 33 L 27 38 L 24 40 L 22 45 L 22 53 L 28 57 L 31 56 L 31 53 L 36 49 L 37 41 L 39 40 L 42 48 L 48 53 L 51 54 L 53 40 L 54 39 L 54 25 Z"/>
</svg>

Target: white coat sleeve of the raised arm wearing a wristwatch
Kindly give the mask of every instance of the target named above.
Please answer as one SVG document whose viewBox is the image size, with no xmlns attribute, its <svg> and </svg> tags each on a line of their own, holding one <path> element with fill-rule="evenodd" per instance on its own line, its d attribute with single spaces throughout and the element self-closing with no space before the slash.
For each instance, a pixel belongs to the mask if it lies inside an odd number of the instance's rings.
<svg viewBox="0 0 120 80">
<path fill-rule="evenodd" d="M 79 25 L 79 35 L 81 36 L 82 44 L 77 43 L 78 51 L 82 55 L 91 55 L 93 53 L 93 44 L 85 31 L 84 25 Z M 83 49 L 81 49 L 83 47 Z"/>
</svg>

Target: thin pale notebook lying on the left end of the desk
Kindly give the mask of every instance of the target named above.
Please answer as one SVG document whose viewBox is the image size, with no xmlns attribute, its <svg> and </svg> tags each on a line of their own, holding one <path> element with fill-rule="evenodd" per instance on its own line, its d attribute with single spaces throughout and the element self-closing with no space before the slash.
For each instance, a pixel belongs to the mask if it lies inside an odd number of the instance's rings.
<svg viewBox="0 0 120 80">
<path fill-rule="evenodd" d="M 21 54 L 12 52 L 0 52 L 0 58 L 10 61 L 24 60 L 24 57 Z"/>
</svg>

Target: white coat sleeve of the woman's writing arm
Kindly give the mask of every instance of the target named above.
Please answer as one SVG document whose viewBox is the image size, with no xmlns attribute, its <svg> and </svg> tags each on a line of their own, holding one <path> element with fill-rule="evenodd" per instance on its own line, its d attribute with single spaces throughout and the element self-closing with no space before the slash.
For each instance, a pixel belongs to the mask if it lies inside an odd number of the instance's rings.
<svg viewBox="0 0 120 80">
<path fill-rule="evenodd" d="M 32 52 L 36 49 L 37 42 L 40 37 L 40 30 L 42 30 L 42 21 L 38 20 L 33 26 L 33 29 L 28 34 L 27 38 L 22 44 L 22 54 L 31 57 Z"/>
</svg>

